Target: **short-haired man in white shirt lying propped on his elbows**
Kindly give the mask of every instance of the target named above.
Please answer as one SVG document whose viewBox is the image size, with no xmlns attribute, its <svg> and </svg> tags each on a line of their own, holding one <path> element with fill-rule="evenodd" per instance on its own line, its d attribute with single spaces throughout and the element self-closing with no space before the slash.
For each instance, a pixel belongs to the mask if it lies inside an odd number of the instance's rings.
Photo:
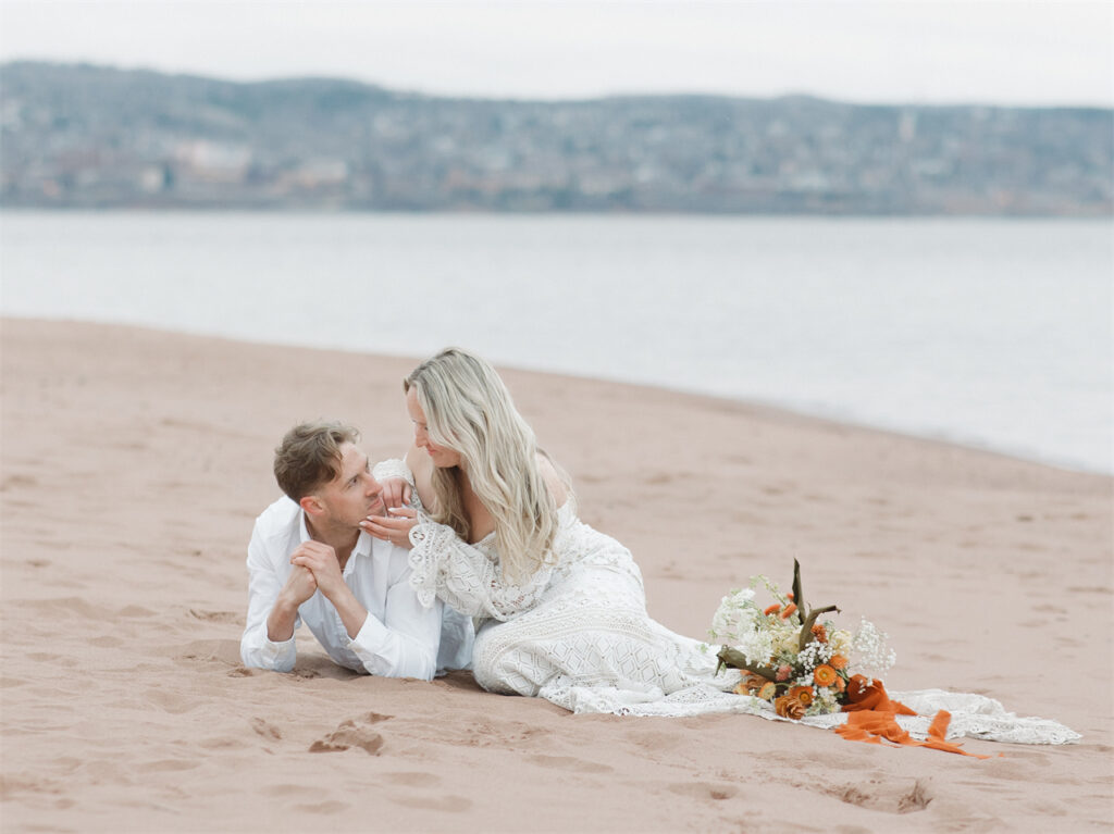
<svg viewBox="0 0 1114 834">
<path fill-rule="evenodd" d="M 286 497 L 255 520 L 247 548 L 245 666 L 293 669 L 300 622 L 335 663 L 361 674 L 429 680 L 469 664 L 471 621 L 440 600 L 423 608 L 407 550 L 359 527 L 385 508 L 358 439 L 342 423 L 302 423 L 275 450 Z"/>
</svg>

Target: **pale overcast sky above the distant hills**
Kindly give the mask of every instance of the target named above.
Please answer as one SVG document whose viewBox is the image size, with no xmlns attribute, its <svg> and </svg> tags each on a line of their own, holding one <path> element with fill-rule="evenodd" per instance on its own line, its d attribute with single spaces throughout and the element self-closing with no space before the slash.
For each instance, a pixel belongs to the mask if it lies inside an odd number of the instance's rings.
<svg viewBox="0 0 1114 834">
<path fill-rule="evenodd" d="M 1114 105 L 1111 0 L 0 0 L 0 60 L 429 94 Z"/>
</svg>

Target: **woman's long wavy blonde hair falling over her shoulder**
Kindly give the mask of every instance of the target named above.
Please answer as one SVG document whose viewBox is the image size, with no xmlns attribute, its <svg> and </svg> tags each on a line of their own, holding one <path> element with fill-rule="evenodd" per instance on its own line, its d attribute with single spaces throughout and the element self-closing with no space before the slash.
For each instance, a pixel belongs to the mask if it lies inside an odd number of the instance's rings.
<svg viewBox="0 0 1114 834">
<path fill-rule="evenodd" d="M 534 431 L 485 360 L 449 347 L 414 369 L 414 389 L 437 445 L 460 454 L 477 498 L 495 518 L 502 573 L 511 581 L 546 561 L 557 532 L 557 508 L 538 471 Z M 452 469 L 434 468 L 432 519 L 470 538 L 468 513 Z"/>
</svg>

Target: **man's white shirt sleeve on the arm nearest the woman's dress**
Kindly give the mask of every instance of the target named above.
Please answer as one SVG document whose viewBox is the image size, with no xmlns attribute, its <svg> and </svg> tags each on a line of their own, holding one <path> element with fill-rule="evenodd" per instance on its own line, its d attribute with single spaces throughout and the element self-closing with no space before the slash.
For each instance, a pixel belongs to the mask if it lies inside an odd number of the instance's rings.
<svg viewBox="0 0 1114 834">
<path fill-rule="evenodd" d="M 399 569 L 392 571 L 383 621 L 369 612 L 349 648 L 370 675 L 431 680 L 437 671 L 442 607 L 438 602 L 426 608 L 418 601 L 410 588 L 404 551 L 397 559 Z"/>
</svg>

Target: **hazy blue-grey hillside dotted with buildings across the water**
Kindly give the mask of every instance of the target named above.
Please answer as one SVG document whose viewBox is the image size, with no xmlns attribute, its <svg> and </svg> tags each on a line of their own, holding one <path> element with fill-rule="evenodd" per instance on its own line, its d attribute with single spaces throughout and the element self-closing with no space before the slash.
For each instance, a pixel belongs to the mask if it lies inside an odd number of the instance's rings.
<svg viewBox="0 0 1114 834">
<path fill-rule="evenodd" d="M 353 210 L 1108 215 L 1106 109 L 807 97 L 438 99 L 0 68 L 0 204 Z"/>
</svg>

